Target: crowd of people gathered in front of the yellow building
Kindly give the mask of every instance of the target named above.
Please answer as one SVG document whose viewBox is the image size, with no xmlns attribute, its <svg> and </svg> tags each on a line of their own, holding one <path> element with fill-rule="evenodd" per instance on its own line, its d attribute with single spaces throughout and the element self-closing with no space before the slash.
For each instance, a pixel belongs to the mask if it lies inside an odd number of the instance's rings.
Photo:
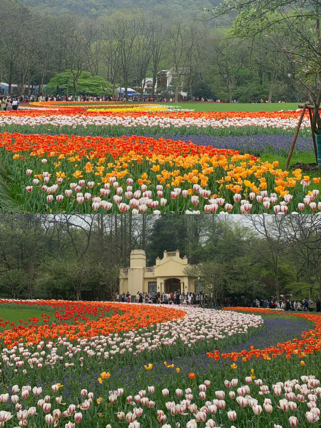
<svg viewBox="0 0 321 428">
<path fill-rule="evenodd" d="M 116 294 L 116 301 L 118 302 L 128 302 L 132 301 L 131 294 L 127 293 Z M 175 291 L 171 293 L 160 293 L 159 291 L 153 291 L 152 293 L 140 293 L 137 292 L 135 296 L 135 303 L 155 303 L 155 304 L 177 304 L 177 305 L 198 305 L 204 306 L 207 303 L 206 296 L 202 291 L 200 293 L 185 293 L 180 291 Z"/>
</svg>

